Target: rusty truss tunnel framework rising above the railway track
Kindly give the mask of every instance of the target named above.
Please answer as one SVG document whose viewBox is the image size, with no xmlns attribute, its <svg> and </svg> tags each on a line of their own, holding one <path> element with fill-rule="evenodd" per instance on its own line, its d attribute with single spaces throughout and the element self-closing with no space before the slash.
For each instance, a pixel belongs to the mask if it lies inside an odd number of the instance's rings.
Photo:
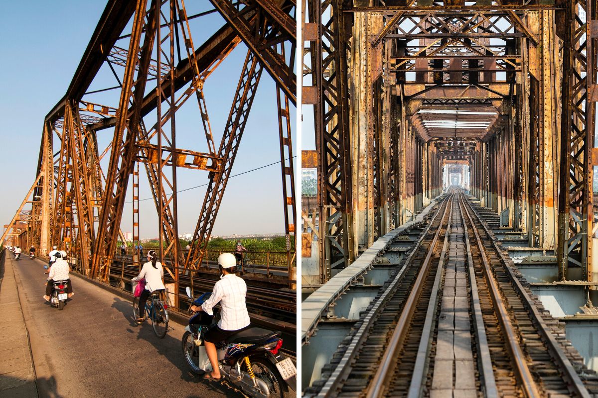
<svg viewBox="0 0 598 398">
<path fill-rule="evenodd" d="M 304 284 L 412 220 L 449 167 L 499 229 L 553 256 L 558 281 L 597 283 L 596 6 L 306 0 L 303 112 L 313 106 L 316 150 L 303 167 L 319 177 L 304 246 L 313 240 L 319 274 Z"/>
</svg>

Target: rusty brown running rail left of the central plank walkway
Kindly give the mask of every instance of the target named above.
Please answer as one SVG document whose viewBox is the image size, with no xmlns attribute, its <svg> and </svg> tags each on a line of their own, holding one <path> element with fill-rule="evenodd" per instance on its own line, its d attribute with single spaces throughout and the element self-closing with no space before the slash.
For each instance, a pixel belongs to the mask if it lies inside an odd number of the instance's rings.
<svg viewBox="0 0 598 398">
<path fill-rule="evenodd" d="M 417 275 L 417 279 L 414 282 L 414 287 L 411 289 L 409 297 L 405 302 L 405 306 L 401 312 L 401 316 L 399 317 L 398 322 L 396 323 L 395 329 L 392 332 L 392 337 L 390 337 L 388 346 L 386 347 L 386 351 L 380 361 L 380 365 L 374 375 L 373 380 L 370 382 L 368 387 L 368 391 L 366 394 L 367 398 L 380 398 L 383 396 L 383 393 L 388 386 L 388 373 L 390 369 L 394 369 L 394 365 L 396 363 L 396 351 L 398 350 L 399 346 L 401 345 L 402 341 L 405 337 L 405 332 L 410 324 L 411 317 L 413 316 L 413 312 L 416 307 L 417 298 L 420 295 L 420 292 L 423 288 L 423 279 L 425 278 L 428 270 L 430 268 L 432 253 L 434 252 L 434 248 L 437 245 L 438 237 L 440 236 L 440 231 L 442 230 L 443 222 L 447 215 L 447 209 L 453 203 L 454 195 L 451 195 L 450 198 L 447 200 L 447 205 L 444 208 L 443 218 L 441 220 L 441 225 L 438 227 L 438 230 L 434 234 L 434 238 L 428 249 L 428 254 L 426 254 L 425 259 L 423 260 L 422 267 L 419 270 L 419 274 Z"/>
</svg>

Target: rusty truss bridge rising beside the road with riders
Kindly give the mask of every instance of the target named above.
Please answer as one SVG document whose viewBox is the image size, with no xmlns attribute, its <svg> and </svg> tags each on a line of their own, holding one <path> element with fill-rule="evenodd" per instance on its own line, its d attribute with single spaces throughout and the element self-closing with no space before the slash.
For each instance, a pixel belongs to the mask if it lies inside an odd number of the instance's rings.
<svg viewBox="0 0 598 398">
<path fill-rule="evenodd" d="M 120 225 L 130 188 L 133 242 L 139 242 L 139 180 L 144 169 L 160 228 L 160 258 L 170 264 L 170 277 L 178 284 L 179 273 L 202 263 L 261 79 L 276 83 L 272 95 L 277 109 L 271 115 L 279 127 L 285 232 L 288 242 L 294 241 L 290 113 L 296 106 L 295 1 L 200 3 L 108 1 L 66 94 L 44 119 L 35 180 L 5 225 L 3 242 L 33 245 L 38 253 L 58 245 L 77 259 L 84 274 L 108 282 L 117 240 L 124 242 Z M 196 19 L 213 18 L 210 14 L 219 14 L 225 23 L 206 35 L 210 24 Z M 201 42 L 198 36 L 207 39 Z M 203 86 L 239 45 L 247 54 L 218 143 Z M 97 88 L 94 82 L 106 73 L 114 85 Z M 94 102 L 97 94 L 105 102 Z M 197 102 L 199 134 L 193 150 L 177 144 L 175 116 L 187 101 Z M 99 147 L 100 133 L 111 135 L 107 147 Z M 181 250 L 178 239 L 180 168 L 208 174 L 190 251 Z M 288 246 L 290 276 L 295 259 Z"/>
</svg>

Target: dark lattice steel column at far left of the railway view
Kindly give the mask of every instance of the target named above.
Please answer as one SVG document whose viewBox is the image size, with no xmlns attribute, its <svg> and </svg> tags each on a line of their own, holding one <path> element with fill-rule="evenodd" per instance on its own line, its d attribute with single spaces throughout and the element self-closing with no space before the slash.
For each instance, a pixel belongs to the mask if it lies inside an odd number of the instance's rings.
<svg viewBox="0 0 598 398">
<path fill-rule="evenodd" d="M 316 150 L 319 157 L 318 208 L 320 266 L 355 261 L 353 198 L 347 87 L 346 18 L 340 0 L 307 3 L 310 39 Z M 307 27 L 309 26 L 309 29 Z M 325 42 L 323 41 L 325 40 Z M 324 44 L 327 53 L 324 54 Z M 333 255 L 334 252 L 334 255 Z"/>
</svg>

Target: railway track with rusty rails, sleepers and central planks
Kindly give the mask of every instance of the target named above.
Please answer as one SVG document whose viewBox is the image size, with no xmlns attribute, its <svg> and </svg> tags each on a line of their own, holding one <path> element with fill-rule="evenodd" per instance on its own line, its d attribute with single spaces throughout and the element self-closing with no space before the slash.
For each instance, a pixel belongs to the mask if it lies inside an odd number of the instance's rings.
<svg viewBox="0 0 598 398">
<path fill-rule="evenodd" d="M 429 228 L 310 397 L 590 397 L 595 375 L 555 338 L 469 200 Z"/>
</svg>

